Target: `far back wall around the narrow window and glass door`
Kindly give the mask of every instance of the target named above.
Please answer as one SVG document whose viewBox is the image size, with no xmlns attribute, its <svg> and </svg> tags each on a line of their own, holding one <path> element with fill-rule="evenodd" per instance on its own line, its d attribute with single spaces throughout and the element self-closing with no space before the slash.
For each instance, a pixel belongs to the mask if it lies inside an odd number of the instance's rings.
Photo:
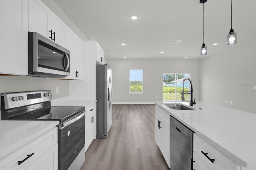
<svg viewBox="0 0 256 170">
<path fill-rule="evenodd" d="M 113 70 L 113 102 L 162 101 L 163 73 L 191 73 L 193 95 L 199 101 L 199 60 L 108 59 L 108 64 Z M 143 94 L 129 94 L 130 69 L 143 69 Z"/>
</svg>

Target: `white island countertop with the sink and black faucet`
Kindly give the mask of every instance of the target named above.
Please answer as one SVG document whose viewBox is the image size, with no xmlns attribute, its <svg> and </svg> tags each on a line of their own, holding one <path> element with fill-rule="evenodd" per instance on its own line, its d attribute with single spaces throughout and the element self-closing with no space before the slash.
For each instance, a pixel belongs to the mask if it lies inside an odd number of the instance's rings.
<svg viewBox="0 0 256 170">
<path fill-rule="evenodd" d="M 155 103 L 237 164 L 256 169 L 256 114 L 204 102 L 196 102 L 195 110 Z"/>
</svg>

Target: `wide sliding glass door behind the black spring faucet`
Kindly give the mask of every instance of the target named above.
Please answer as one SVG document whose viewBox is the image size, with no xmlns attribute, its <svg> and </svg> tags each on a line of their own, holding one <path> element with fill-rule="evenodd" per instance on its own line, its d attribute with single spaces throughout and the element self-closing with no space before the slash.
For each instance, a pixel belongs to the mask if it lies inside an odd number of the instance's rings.
<svg viewBox="0 0 256 170">
<path fill-rule="evenodd" d="M 182 101 L 183 79 L 190 78 L 190 73 L 174 73 L 163 75 L 164 101 Z M 190 91 L 189 81 L 184 81 L 184 91 Z M 184 95 L 185 101 L 189 101 L 189 95 Z"/>
</svg>

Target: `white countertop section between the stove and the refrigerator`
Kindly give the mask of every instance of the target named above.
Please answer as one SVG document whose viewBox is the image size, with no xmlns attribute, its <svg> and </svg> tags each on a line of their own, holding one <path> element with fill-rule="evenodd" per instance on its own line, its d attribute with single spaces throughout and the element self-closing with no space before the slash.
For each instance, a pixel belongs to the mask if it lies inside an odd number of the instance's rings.
<svg viewBox="0 0 256 170">
<path fill-rule="evenodd" d="M 52 106 L 84 106 L 87 109 L 96 102 L 96 100 L 67 100 L 62 103 L 53 103 Z"/>
</svg>

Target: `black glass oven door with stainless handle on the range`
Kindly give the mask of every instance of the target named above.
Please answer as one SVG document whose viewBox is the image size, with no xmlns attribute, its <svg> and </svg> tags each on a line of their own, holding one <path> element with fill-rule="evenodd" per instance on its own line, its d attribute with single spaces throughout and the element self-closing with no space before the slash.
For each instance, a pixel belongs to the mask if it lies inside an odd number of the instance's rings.
<svg viewBox="0 0 256 170">
<path fill-rule="evenodd" d="M 85 110 L 60 124 L 58 135 L 58 169 L 66 170 L 84 147 Z"/>
</svg>

